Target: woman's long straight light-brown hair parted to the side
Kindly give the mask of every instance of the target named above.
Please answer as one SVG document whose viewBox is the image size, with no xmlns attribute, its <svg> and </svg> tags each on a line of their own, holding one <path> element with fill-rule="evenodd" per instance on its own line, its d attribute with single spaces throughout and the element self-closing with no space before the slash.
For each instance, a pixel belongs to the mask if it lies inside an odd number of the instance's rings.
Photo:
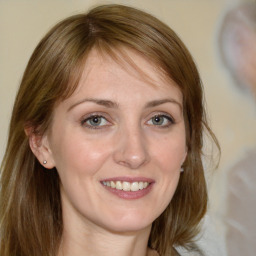
<svg viewBox="0 0 256 256">
<path fill-rule="evenodd" d="M 39 135 L 49 129 L 54 107 L 75 90 L 92 48 L 117 61 L 123 48 L 132 49 L 179 86 L 188 155 L 171 203 L 153 223 L 149 246 L 161 256 L 170 255 L 173 245 L 186 246 L 197 234 L 207 208 L 204 128 L 216 142 L 206 122 L 197 68 L 181 40 L 161 21 L 131 7 L 105 5 L 57 24 L 29 60 L 1 166 L 1 256 L 57 254 L 63 224 L 59 177 L 36 160 L 24 128 Z"/>
</svg>

